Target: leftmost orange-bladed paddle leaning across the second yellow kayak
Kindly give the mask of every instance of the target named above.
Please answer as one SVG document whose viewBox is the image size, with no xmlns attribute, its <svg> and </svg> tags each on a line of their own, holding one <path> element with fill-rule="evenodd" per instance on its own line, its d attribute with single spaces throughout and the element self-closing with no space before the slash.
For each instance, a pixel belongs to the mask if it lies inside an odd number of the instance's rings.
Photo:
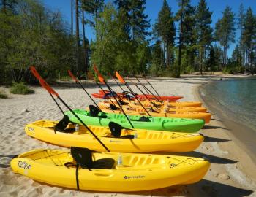
<svg viewBox="0 0 256 197">
<path fill-rule="evenodd" d="M 31 67 L 30 67 L 30 70 L 31 70 L 32 74 L 34 74 L 34 77 L 36 77 L 37 80 L 39 80 L 39 83 L 40 83 L 40 85 L 42 85 L 42 88 L 45 88 L 45 90 L 47 90 L 48 93 L 50 93 L 50 95 L 52 96 L 53 100 L 56 101 L 56 100 L 54 99 L 54 97 L 53 97 L 53 96 L 56 96 L 57 99 L 59 99 L 59 100 L 61 101 L 61 103 L 64 104 L 64 106 L 67 107 L 67 109 L 69 109 L 70 112 L 72 112 L 72 115 L 74 115 L 74 116 L 79 120 L 79 122 L 82 123 L 82 125 L 84 125 L 84 126 L 87 128 L 87 130 L 94 136 L 94 138 L 97 139 L 97 141 L 99 142 L 99 144 L 102 144 L 102 147 L 104 147 L 105 150 L 107 150 L 108 152 L 110 152 L 110 150 L 108 150 L 108 147 L 106 147 L 105 144 L 103 144 L 103 143 L 100 141 L 100 139 L 94 134 L 94 132 L 92 132 L 91 129 L 90 129 L 85 123 L 83 123 L 83 120 L 81 120 L 80 117 L 78 117 L 78 115 L 76 115 L 75 112 L 61 99 L 61 97 L 59 96 L 59 94 L 56 93 L 56 91 L 53 90 L 53 88 L 51 88 L 50 85 L 48 85 L 48 83 L 45 82 L 44 79 L 42 79 L 42 77 L 41 77 L 41 76 L 39 75 L 39 73 L 37 72 L 36 68 L 35 68 L 34 66 L 31 66 Z M 59 105 L 58 105 L 58 106 L 59 106 Z M 61 110 L 61 112 L 63 112 L 63 111 Z"/>
</svg>

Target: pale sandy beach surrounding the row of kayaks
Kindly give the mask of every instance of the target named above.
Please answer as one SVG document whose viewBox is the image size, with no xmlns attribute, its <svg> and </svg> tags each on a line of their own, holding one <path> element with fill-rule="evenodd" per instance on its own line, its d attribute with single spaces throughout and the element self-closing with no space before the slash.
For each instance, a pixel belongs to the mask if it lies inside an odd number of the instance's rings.
<svg viewBox="0 0 256 197">
<path fill-rule="evenodd" d="M 151 83 L 162 95 L 171 93 L 184 96 L 181 101 L 203 101 L 198 88 L 212 80 L 219 80 L 219 77 L 226 80 L 226 77 L 234 76 L 207 74 L 203 77 L 184 75 L 181 79 L 155 77 L 151 79 Z M 98 91 L 92 82 L 86 83 L 85 86 L 89 87 L 89 93 Z M 14 174 L 10 169 L 12 155 L 37 148 L 60 148 L 32 139 L 26 136 L 23 130 L 26 123 L 39 119 L 60 120 L 62 117 L 45 90 L 40 87 L 32 88 L 36 93 L 22 96 L 10 94 L 7 88 L 1 87 L 10 99 L 0 99 L 0 196 L 256 196 L 255 163 L 245 150 L 246 147 L 239 143 L 236 133 L 233 133 L 217 114 L 214 114 L 211 123 L 200 131 L 205 136 L 205 141 L 197 150 L 182 154 L 166 153 L 208 158 L 211 168 L 203 180 L 193 185 L 133 193 L 93 193 L 53 187 Z M 72 109 L 92 104 L 86 93 L 72 82 L 54 88 Z M 116 85 L 113 89 L 120 90 Z M 203 105 L 209 107 L 209 111 L 214 109 L 211 103 L 208 103 L 209 106 Z"/>
</svg>

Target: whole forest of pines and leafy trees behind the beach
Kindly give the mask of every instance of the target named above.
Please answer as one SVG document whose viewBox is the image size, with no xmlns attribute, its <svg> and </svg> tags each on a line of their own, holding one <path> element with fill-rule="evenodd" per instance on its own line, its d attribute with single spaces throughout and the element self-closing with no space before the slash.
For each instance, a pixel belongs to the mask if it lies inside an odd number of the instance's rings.
<svg viewBox="0 0 256 197">
<path fill-rule="evenodd" d="M 86 78 L 94 63 L 105 76 L 116 70 L 125 75 L 180 77 L 255 69 L 256 15 L 243 4 L 238 10 L 225 7 L 213 24 L 214 10 L 206 0 L 198 0 L 196 6 L 177 0 L 176 13 L 164 0 L 151 27 L 146 0 L 69 3 L 71 21 L 42 1 L 0 1 L 0 84 L 32 82 L 31 65 L 53 80 L 67 76 L 68 69 Z M 93 40 L 86 38 L 89 26 L 94 29 Z M 228 57 L 233 43 L 236 47 Z"/>
</svg>

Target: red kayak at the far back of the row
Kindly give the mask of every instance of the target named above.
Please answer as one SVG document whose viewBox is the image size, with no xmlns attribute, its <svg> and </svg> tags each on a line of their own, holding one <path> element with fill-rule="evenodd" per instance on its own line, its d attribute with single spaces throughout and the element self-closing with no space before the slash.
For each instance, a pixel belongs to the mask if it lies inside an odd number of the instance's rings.
<svg viewBox="0 0 256 197">
<path fill-rule="evenodd" d="M 121 96 L 123 98 L 126 98 L 127 96 L 127 93 L 117 93 L 118 96 Z M 99 90 L 99 93 L 92 93 L 91 94 L 92 96 L 94 96 L 95 98 L 102 98 L 102 99 L 110 99 L 113 97 L 113 93 L 110 93 L 110 91 L 107 91 L 105 90 L 105 92 L 103 92 L 102 90 Z M 178 99 L 182 99 L 183 96 L 154 96 L 154 95 L 151 95 L 151 94 L 146 94 L 146 96 L 144 96 L 143 94 L 137 94 L 136 97 L 140 100 L 146 100 L 147 97 L 151 100 L 154 100 L 156 99 L 161 99 L 161 100 L 164 100 L 164 101 L 177 101 Z"/>
</svg>

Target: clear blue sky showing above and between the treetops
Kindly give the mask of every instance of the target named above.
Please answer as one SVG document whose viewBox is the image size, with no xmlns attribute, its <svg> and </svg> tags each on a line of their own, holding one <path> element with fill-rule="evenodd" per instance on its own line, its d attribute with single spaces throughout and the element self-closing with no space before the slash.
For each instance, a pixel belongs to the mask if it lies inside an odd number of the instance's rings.
<svg viewBox="0 0 256 197">
<path fill-rule="evenodd" d="M 191 0 L 192 5 L 197 5 L 199 0 Z M 61 11 L 64 16 L 64 20 L 70 23 L 70 0 L 42 0 L 42 2 L 50 9 Z M 105 0 L 105 3 L 113 2 L 113 0 Z M 155 23 L 159 10 L 162 7 L 163 0 L 146 0 L 145 13 L 148 15 L 151 26 Z M 238 9 L 241 3 L 244 4 L 245 10 L 251 7 L 254 14 L 256 14 L 256 0 L 206 0 L 208 7 L 212 14 L 212 26 L 217 22 L 219 18 L 222 18 L 222 11 L 228 5 L 233 9 L 233 12 L 238 13 Z M 178 4 L 176 0 L 167 0 L 172 12 L 177 12 Z M 89 17 L 89 16 L 88 16 Z M 75 27 L 74 27 L 75 28 Z M 176 27 L 178 28 L 178 27 Z M 151 28 L 148 29 L 151 31 Z M 91 40 L 94 39 L 94 31 L 88 26 L 86 27 L 86 37 Z M 239 31 L 236 32 L 236 40 L 238 40 Z M 230 56 L 235 44 L 230 45 L 230 49 L 227 51 L 227 55 Z"/>
</svg>

